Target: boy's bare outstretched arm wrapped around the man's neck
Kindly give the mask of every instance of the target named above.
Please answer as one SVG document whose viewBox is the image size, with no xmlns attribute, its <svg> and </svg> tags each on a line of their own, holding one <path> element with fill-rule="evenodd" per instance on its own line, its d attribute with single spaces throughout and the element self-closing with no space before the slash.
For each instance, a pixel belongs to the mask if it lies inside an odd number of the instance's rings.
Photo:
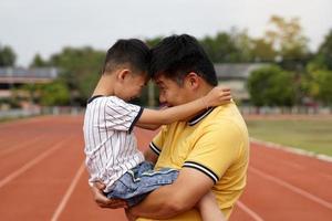
<svg viewBox="0 0 332 221">
<path fill-rule="evenodd" d="M 172 124 L 177 120 L 186 119 L 205 108 L 225 104 L 230 99 L 229 88 L 215 87 L 206 96 L 184 105 L 160 110 L 144 109 L 136 125 Z"/>
</svg>

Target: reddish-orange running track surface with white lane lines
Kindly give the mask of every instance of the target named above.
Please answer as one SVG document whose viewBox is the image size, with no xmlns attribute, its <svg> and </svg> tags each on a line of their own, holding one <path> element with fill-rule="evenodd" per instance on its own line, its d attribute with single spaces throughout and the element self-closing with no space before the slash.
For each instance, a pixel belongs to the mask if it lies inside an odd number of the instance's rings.
<svg viewBox="0 0 332 221">
<path fill-rule="evenodd" d="M 153 134 L 136 134 L 147 147 Z M 92 200 L 82 117 L 4 123 L 0 144 L 0 220 L 125 220 Z M 332 220 L 331 185 L 331 162 L 252 144 L 248 186 L 230 220 Z"/>
</svg>

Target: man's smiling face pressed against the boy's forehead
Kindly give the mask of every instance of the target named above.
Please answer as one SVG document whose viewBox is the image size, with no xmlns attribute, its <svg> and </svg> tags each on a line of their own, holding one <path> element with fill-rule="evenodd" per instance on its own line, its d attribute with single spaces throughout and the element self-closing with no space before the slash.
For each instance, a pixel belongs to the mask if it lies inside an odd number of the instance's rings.
<svg viewBox="0 0 332 221">
<path fill-rule="evenodd" d="M 155 83 L 159 87 L 159 102 L 168 107 L 181 105 L 190 102 L 193 92 L 186 85 L 178 85 L 175 80 L 167 78 L 159 74 L 155 77 Z"/>
</svg>

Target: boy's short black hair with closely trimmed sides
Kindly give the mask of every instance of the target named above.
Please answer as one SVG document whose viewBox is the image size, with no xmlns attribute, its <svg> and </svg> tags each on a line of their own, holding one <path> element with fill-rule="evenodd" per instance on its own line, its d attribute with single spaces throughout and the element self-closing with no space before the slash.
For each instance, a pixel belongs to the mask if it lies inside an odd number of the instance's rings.
<svg viewBox="0 0 332 221">
<path fill-rule="evenodd" d="M 121 39 L 113 44 L 105 57 L 103 73 L 112 72 L 118 65 L 128 64 L 135 72 L 148 72 L 151 50 L 138 39 Z"/>
</svg>

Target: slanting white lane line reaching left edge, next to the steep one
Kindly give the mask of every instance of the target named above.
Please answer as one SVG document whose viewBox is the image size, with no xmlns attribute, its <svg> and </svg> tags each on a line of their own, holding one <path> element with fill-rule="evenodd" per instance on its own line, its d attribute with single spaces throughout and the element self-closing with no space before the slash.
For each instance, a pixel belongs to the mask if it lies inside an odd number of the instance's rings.
<svg viewBox="0 0 332 221">
<path fill-rule="evenodd" d="M 45 157 L 48 157 L 52 152 L 54 152 L 56 149 L 59 149 L 60 147 L 62 147 L 63 144 L 66 143 L 68 140 L 69 139 L 65 139 L 65 140 L 61 141 L 61 143 L 59 143 L 58 145 L 54 145 L 52 148 L 48 149 L 46 151 L 44 151 L 43 154 L 39 155 L 34 159 L 30 160 L 28 164 L 23 165 L 20 169 L 13 171 L 9 176 L 7 176 L 4 179 L 0 180 L 0 188 L 2 188 L 3 186 L 6 186 L 11 180 L 15 179 L 17 177 L 19 177 L 23 172 L 25 172 L 28 169 L 30 169 L 32 166 L 34 166 L 38 162 L 40 162 L 41 160 L 43 160 Z"/>
</svg>

